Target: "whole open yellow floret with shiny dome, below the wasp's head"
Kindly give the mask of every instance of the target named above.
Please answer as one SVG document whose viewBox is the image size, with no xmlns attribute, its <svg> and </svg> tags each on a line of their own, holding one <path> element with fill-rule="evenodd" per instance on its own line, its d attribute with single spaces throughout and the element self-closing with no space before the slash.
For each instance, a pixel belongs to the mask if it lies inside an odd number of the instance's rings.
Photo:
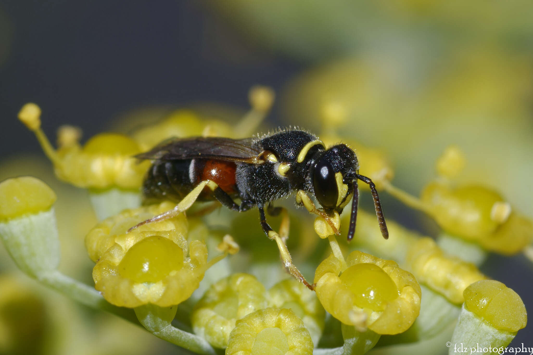
<svg viewBox="0 0 533 355">
<path fill-rule="evenodd" d="M 413 275 L 391 260 L 360 251 L 346 259 L 348 269 L 329 255 L 314 276 L 322 306 L 344 324 L 378 334 L 405 332 L 418 317 L 421 290 Z"/>
</svg>

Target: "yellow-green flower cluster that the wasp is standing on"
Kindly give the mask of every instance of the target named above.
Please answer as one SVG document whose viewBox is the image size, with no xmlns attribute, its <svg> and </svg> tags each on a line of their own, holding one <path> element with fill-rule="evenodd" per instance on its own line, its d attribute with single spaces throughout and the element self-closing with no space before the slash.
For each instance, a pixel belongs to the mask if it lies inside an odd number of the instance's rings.
<svg viewBox="0 0 533 355">
<path fill-rule="evenodd" d="M 254 88 L 253 108 L 238 123 L 239 131 L 260 121 L 271 101 L 270 90 Z M 331 122 L 345 119 L 342 108 L 331 104 L 323 114 Z M 390 240 L 385 241 L 375 217 L 359 211 L 349 245 L 338 243 L 334 235 L 335 228 L 348 226 L 345 217 L 319 216 L 314 224 L 302 218 L 290 229 L 284 212 L 283 237 L 276 241 L 285 246 L 290 230 L 288 242 L 302 245 L 294 260 L 303 274 L 314 270 L 312 292 L 295 278 L 279 277 L 276 260 L 261 259 L 269 255 L 268 246 L 255 242 L 263 238 L 261 230 L 232 223 L 234 217 L 228 216 L 236 213 L 221 211 L 217 217 L 207 213 L 212 206 L 185 212 L 192 204 L 185 201 L 187 208 L 179 213 L 154 218 L 173 210 L 175 203 L 140 205 L 138 189 L 149 162 L 137 164 L 135 154 L 171 135 L 231 135 L 227 123 L 177 111 L 131 136 L 100 134 L 83 146 L 79 131 L 67 127 L 60 130 L 61 143 L 54 150 L 39 115 L 38 107 L 28 104 L 20 119 L 37 135 L 56 176 L 90 192 L 100 220 L 85 238 L 95 263 L 94 289 L 58 270 L 56 196 L 41 180 L 21 177 L 0 184 L 0 235 L 6 249 L 39 282 L 138 321 L 161 339 L 202 354 L 216 349 L 226 354 L 356 354 L 380 344 L 416 346 L 443 334 L 457 320 L 449 335 L 455 342 L 483 340 L 496 347 L 506 346 L 526 326 L 518 294 L 489 280 L 478 267 L 488 251 L 507 255 L 525 249 L 533 225 L 497 192 L 454 182 L 465 164 L 457 147 L 437 160 L 438 178 L 418 199 L 392 185 L 394 170 L 382 152 L 351 143 L 361 147 L 362 173 L 427 213 L 442 233 L 434 241 L 387 220 Z M 333 132 L 324 137 L 326 142 L 340 139 Z M 198 195 L 203 188 L 197 188 Z M 199 218 L 202 214 L 206 216 Z M 317 245 L 313 229 L 327 238 L 331 252 Z M 244 239 L 237 243 L 231 235 Z M 228 254 L 235 255 L 217 263 Z M 132 308 L 134 315 L 123 307 Z"/>
</svg>

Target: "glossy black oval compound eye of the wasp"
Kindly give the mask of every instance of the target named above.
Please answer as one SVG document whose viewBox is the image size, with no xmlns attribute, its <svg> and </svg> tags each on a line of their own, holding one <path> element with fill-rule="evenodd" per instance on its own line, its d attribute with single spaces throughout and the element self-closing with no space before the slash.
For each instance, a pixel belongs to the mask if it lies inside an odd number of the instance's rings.
<svg viewBox="0 0 533 355">
<path fill-rule="evenodd" d="M 335 171 L 326 159 L 319 160 L 313 171 L 314 195 L 324 208 L 335 208 L 337 206 L 337 181 Z"/>
</svg>

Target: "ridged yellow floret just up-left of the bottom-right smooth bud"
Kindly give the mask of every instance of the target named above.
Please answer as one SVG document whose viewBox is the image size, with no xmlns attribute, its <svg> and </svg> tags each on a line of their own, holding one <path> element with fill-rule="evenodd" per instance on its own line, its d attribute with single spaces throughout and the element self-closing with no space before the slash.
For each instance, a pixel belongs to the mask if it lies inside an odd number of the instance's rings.
<svg viewBox="0 0 533 355">
<path fill-rule="evenodd" d="M 411 246 L 407 263 L 420 282 L 454 303 L 464 302 L 467 286 L 487 278 L 474 264 L 447 257 L 431 238 L 421 238 Z"/>
</svg>

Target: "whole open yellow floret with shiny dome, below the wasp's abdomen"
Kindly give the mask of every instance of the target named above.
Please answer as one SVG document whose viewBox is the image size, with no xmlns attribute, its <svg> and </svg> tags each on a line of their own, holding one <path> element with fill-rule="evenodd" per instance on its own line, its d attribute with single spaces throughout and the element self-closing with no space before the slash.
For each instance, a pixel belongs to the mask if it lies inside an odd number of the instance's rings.
<svg viewBox="0 0 533 355">
<path fill-rule="evenodd" d="M 188 246 L 175 230 L 130 233 L 115 241 L 93 269 L 94 287 L 115 306 L 179 304 L 198 288 L 209 267 L 205 243 Z"/>
</svg>

